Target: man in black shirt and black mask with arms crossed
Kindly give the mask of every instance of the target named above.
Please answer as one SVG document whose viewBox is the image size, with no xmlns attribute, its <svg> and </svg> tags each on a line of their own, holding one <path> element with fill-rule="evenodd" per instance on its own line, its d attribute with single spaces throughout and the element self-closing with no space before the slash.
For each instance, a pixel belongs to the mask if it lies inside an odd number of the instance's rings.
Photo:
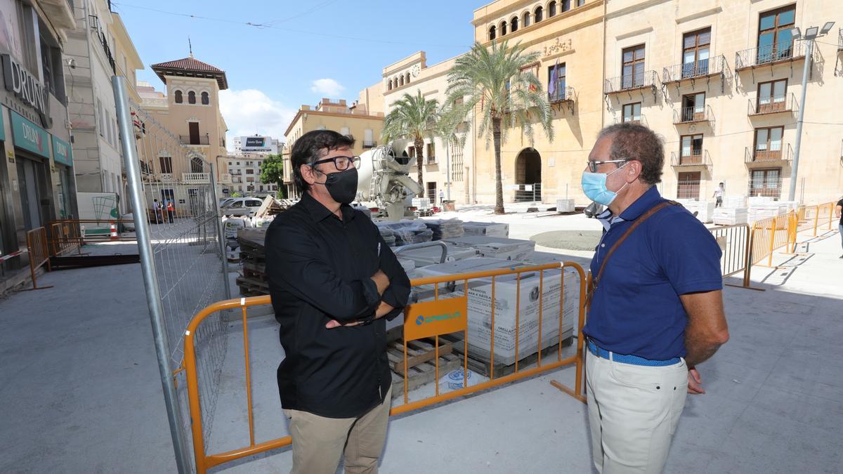
<svg viewBox="0 0 843 474">
<path fill-rule="evenodd" d="M 285 358 L 278 391 L 293 437 L 293 473 L 377 472 L 392 391 L 385 320 L 410 280 L 357 195 L 352 137 L 319 130 L 293 145 L 302 194 L 266 232 L 266 272 Z"/>
</svg>

